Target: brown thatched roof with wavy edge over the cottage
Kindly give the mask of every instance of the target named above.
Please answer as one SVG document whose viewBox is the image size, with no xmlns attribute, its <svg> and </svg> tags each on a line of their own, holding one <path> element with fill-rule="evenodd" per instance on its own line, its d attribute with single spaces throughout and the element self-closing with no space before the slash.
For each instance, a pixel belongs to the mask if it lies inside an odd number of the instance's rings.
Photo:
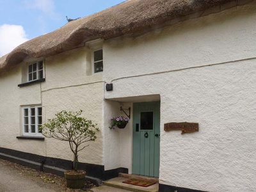
<svg viewBox="0 0 256 192">
<path fill-rule="evenodd" d="M 24 58 L 45 57 L 74 49 L 96 38 L 114 38 L 148 31 L 168 20 L 201 12 L 234 0 L 129 0 L 72 22 L 16 47 L 0 58 L 0 72 Z"/>
</svg>

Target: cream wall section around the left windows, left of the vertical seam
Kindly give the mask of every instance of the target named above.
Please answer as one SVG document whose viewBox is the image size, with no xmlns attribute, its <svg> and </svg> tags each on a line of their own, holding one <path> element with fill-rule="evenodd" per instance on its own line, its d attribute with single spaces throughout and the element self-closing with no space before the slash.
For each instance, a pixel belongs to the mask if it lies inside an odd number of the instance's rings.
<svg viewBox="0 0 256 192">
<path fill-rule="evenodd" d="M 23 63 L 24 64 L 24 63 Z M 44 142 L 33 140 L 18 140 L 22 134 L 21 106 L 40 104 L 40 84 L 28 86 L 26 89 L 17 85 L 21 81 L 20 67 L 0 77 L 0 147 L 11 148 L 23 152 L 45 155 Z"/>
</svg>

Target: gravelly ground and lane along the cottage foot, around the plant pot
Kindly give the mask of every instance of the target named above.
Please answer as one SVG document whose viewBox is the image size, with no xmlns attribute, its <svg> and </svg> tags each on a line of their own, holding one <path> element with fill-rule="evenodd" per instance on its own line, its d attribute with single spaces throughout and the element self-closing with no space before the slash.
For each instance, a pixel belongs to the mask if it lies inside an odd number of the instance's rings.
<svg viewBox="0 0 256 192">
<path fill-rule="evenodd" d="M 69 189 L 63 177 L 0 159 L 0 192 L 82 192 L 94 187 L 86 181 L 83 189 Z"/>
</svg>

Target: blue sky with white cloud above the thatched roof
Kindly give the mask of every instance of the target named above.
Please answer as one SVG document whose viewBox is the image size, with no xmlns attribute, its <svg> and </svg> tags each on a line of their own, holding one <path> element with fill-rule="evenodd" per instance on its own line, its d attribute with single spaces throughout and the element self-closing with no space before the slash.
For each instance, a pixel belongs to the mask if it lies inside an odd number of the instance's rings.
<svg viewBox="0 0 256 192">
<path fill-rule="evenodd" d="M 18 45 L 125 0 L 0 0 L 0 57 Z"/>
</svg>

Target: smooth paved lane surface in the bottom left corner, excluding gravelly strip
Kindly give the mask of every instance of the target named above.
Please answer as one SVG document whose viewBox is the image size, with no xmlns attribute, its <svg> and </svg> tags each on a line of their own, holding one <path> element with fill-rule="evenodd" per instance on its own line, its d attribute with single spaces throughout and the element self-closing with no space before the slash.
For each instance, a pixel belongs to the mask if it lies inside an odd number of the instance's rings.
<svg viewBox="0 0 256 192">
<path fill-rule="evenodd" d="M 15 167 L 0 161 L 0 192 L 56 192 L 65 188 L 56 184 L 46 183 L 42 179 L 22 173 Z"/>
</svg>

